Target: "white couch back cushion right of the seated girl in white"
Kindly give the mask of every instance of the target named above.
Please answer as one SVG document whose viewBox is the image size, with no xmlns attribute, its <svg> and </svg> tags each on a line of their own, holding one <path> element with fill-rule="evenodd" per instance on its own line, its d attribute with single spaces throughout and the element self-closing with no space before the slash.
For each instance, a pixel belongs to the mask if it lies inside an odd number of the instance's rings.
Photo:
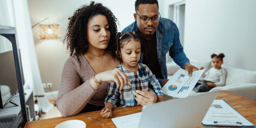
<svg viewBox="0 0 256 128">
<path fill-rule="evenodd" d="M 256 71 L 249 71 L 229 66 L 223 67 L 227 72 L 226 84 L 256 83 Z"/>
</svg>

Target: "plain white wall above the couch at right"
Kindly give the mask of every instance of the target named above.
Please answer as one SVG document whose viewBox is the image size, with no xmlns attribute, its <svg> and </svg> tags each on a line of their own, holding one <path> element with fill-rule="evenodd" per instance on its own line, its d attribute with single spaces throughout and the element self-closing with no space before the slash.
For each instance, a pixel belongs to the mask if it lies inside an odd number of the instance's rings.
<svg viewBox="0 0 256 128">
<path fill-rule="evenodd" d="M 186 0 L 184 52 L 209 60 L 224 53 L 224 64 L 256 70 L 255 0 Z"/>
</svg>

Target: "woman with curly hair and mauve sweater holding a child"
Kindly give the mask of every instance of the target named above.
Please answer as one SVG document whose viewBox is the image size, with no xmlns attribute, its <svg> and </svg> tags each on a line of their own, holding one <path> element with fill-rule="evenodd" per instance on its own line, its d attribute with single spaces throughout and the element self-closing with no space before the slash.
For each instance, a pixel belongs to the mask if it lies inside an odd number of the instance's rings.
<svg viewBox="0 0 256 128">
<path fill-rule="evenodd" d="M 70 56 L 63 67 L 60 89 L 56 100 L 62 116 L 98 111 L 104 108 L 109 82 L 119 89 L 131 84 L 129 78 L 118 69 L 115 60 L 117 19 L 101 3 L 82 6 L 69 18 L 67 49 Z M 157 101 L 155 93 L 139 91 L 138 103 L 152 104 Z"/>
</svg>

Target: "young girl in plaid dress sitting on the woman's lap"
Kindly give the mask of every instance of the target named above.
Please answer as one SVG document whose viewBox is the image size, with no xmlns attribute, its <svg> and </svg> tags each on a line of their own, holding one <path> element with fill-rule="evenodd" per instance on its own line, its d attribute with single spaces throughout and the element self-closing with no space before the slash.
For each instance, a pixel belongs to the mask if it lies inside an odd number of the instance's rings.
<svg viewBox="0 0 256 128">
<path fill-rule="evenodd" d="M 145 46 L 141 42 L 137 31 L 118 33 L 117 39 L 117 60 L 122 64 L 115 69 L 122 70 L 130 79 L 131 86 L 136 90 L 148 91 L 149 83 L 153 91 L 158 96 L 158 101 L 163 101 L 163 90 L 152 74 L 151 70 L 145 64 L 138 63 L 141 52 L 145 53 Z M 121 78 L 120 78 L 121 79 Z M 129 85 L 120 90 L 116 83 L 110 83 L 108 87 L 108 96 L 105 99 L 105 108 L 101 111 L 103 118 L 112 116 L 113 107 L 130 107 L 140 105 L 134 95 L 135 91 Z M 146 105 L 147 103 L 145 103 Z"/>
</svg>

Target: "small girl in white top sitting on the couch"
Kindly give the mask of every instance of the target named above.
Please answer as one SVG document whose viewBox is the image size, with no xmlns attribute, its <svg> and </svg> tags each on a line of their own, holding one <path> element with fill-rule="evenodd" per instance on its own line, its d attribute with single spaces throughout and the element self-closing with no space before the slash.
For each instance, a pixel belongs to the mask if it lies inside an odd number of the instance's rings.
<svg viewBox="0 0 256 128">
<path fill-rule="evenodd" d="M 193 88 L 194 91 L 207 92 L 213 87 L 225 85 L 227 73 L 221 68 L 221 65 L 223 64 L 223 57 L 225 57 L 223 53 L 220 53 L 219 55 L 211 55 L 214 67 L 210 68 L 206 72 L 204 80 L 196 84 L 196 86 Z M 202 69 L 203 67 L 200 68 L 200 70 Z"/>
</svg>

